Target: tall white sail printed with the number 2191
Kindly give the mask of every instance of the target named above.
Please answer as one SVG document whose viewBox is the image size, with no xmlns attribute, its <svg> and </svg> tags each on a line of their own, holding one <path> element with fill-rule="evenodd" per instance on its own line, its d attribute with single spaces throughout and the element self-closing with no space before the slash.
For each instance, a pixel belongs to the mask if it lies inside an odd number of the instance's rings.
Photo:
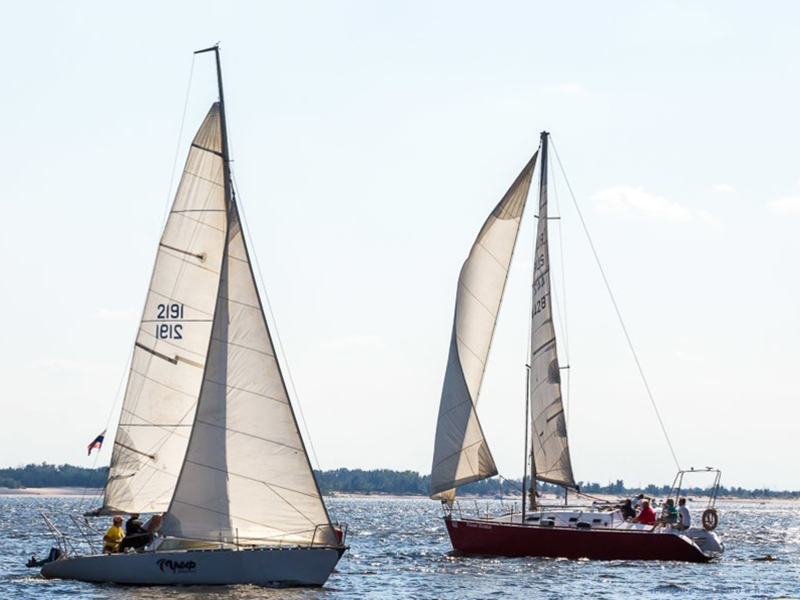
<svg viewBox="0 0 800 600">
<path fill-rule="evenodd" d="M 219 104 L 192 142 L 158 247 L 98 513 L 163 512 L 203 378 L 225 247 Z"/>
</svg>

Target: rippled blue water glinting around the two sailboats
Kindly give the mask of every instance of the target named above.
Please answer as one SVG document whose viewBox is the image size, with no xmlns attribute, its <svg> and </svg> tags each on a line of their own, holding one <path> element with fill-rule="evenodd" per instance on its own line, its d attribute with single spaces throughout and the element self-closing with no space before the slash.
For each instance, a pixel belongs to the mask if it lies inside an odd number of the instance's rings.
<svg viewBox="0 0 800 600">
<path fill-rule="evenodd" d="M 800 597 L 800 502 L 718 503 L 726 553 L 711 564 L 450 556 L 437 503 L 335 499 L 350 551 L 319 590 L 134 588 L 47 581 L 25 561 L 50 547 L 39 513 L 75 498 L 0 498 L 0 598 L 783 598 Z M 699 513 L 699 507 L 694 512 Z"/>
</svg>

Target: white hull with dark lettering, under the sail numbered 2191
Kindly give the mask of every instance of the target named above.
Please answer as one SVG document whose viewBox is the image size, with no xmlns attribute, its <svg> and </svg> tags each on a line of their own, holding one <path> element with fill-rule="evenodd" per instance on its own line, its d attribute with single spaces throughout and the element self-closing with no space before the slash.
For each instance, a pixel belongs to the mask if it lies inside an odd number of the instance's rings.
<svg viewBox="0 0 800 600">
<path fill-rule="evenodd" d="M 130 585 L 321 586 L 343 548 L 264 548 L 92 554 L 46 564 L 47 579 Z"/>
</svg>

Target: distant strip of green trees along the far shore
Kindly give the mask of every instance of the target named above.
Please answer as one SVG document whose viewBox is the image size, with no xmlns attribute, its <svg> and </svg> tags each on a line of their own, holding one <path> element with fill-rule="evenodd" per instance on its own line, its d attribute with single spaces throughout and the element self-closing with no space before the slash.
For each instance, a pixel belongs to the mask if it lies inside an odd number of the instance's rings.
<svg viewBox="0 0 800 600">
<path fill-rule="evenodd" d="M 30 464 L 24 467 L 0 469 L 0 487 L 5 488 L 38 488 L 38 487 L 103 487 L 108 475 L 108 467 L 87 469 L 73 465 L 51 465 L 48 463 Z M 390 469 L 334 469 L 332 471 L 314 471 L 317 483 L 323 494 L 391 494 L 395 496 L 427 496 L 430 490 L 430 476 L 420 475 L 416 471 L 392 471 Z M 670 486 L 654 484 L 645 487 L 628 487 L 623 480 L 601 485 L 592 482 L 579 482 L 580 489 L 586 494 L 610 494 L 624 497 L 634 494 L 666 497 Z M 504 478 L 485 479 L 470 483 L 459 489 L 459 495 L 482 497 L 514 497 L 521 496 L 523 489 L 521 480 Z M 544 493 L 562 494 L 562 488 L 540 483 L 538 490 Z M 684 488 L 684 494 L 702 495 L 708 488 Z M 720 496 L 733 498 L 800 498 L 800 491 L 776 491 L 767 488 L 748 490 L 742 487 L 724 487 L 719 489 Z"/>
</svg>

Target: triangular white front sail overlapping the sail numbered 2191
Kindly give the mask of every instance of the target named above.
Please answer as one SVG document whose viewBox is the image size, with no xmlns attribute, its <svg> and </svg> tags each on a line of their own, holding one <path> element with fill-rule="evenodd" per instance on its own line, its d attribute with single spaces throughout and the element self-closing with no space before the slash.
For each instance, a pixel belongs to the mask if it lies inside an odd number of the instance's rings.
<svg viewBox="0 0 800 600">
<path fill-rule="evenodd" d="M 161 531 L 213 542 L 337 545 L 234 203 L 203 387 Z"/>
</svg>

